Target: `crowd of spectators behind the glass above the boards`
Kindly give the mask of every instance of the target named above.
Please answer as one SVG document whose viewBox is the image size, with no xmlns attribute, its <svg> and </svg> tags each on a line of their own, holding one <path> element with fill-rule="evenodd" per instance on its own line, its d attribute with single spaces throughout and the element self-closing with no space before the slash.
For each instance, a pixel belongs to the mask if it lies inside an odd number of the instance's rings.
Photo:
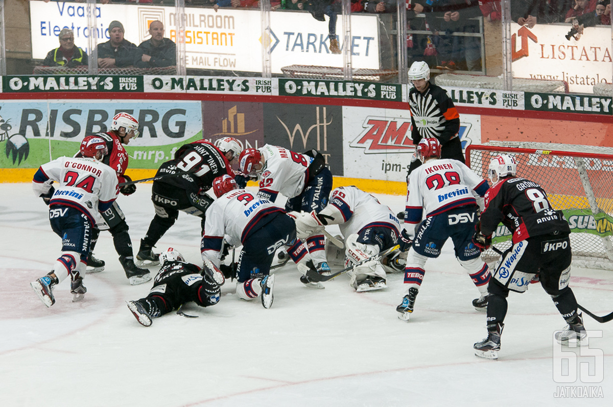
<svg viewBox="0 0 613 407">
<path fill-rule="evenodd" d="M 49 1 L 49 0 L 44 0 Z M 85 0 L 77 0 L 85 1 Z M 174 0 L 99 0 L 101 4 L 140 3 L 174 5 Z M 329 25 L 329 50 L 340 54 L 336 35 L 340 0 L 270 0 L 272 10 L 304 10 L 313 18 Z M 425 61 L 441 70 L 481 70 L 479 18 L 495 23 L 501 20 L 500 0 L 405 0 L 408 36 L 406 46 L 409 63 Z M 258 0 L 185 0 L 186 7 L 257 8 Z M 351 0 L 352 13 L 396 13 L 397 0 Z M 582 28 L 611 24 L 611 0 L 513 0 L 511 20 L 533 28 L 537 23 L 571 23 L 581 34 Z M 419 33 L 414 33 L 417 31 Z M 427 31 L 431 34 L 424 34 Z M 462 35 L 458 35 L 462 33 Z M 465 35 L 465 34 L 469 35 Z M 123 37 L 120 21 L 109 26 L 109 41 L 97 45 L 97 61 L 101 68 L 169 67 L 176 64 L 175 43 L 164 38 L 164 24 L 154 21 L 151 38 L 135 45 Z M 474 35 L 470 35 L 474 34 Z M 64 29 L 60 47 L 49 51 L 44 65 L 87 65 L 88 55 L 74 45 L 74 34 Z"/>
</svg>

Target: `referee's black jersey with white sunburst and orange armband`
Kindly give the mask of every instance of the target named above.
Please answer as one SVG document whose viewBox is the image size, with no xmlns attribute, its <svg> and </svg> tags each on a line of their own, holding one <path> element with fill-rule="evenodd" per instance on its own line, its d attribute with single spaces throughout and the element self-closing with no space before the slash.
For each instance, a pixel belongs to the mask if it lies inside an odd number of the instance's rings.
<svg viewBox="0 0 613 407">
<path fill-rule="evenodd" d="M 454 102 L 443 88 L 433 83 L 422 94 L 411 88 L 408 97 L 411 107 L 411 138 L 419 144 L 422 138 L 435 137 L 444 147 L 460 131 L 460 115 Z"/>
</svg>

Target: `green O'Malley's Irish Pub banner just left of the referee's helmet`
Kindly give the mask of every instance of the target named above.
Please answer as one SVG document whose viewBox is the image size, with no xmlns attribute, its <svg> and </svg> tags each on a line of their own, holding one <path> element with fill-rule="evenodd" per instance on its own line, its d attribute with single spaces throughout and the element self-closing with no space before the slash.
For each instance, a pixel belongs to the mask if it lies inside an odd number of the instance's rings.
<svg viewBox="0 0 613 407">
<path fill-rule="evenodd" d="M 354 97 L 402 102 L 402 85 L 279 78 L 280 96 Z"/>
</svg>

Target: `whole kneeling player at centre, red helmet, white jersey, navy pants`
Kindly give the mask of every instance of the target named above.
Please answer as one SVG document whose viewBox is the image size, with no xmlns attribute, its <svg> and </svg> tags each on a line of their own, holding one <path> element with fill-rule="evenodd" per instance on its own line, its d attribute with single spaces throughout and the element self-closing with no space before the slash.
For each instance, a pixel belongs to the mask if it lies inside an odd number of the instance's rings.
<svg viewBox="0 0 613 407">
<path fill-rule="evenodd" d="M 296 239 L 294 219 L 259 195 L 237 189 L 229 175 L 213 181 L 217 199 L 209 207 L 202 236 L 202 260 L 219 267 L 224 236 L 243 248 L 238 256 L 236 293 L 243 300 L 260 297 L 264 308 L 273 302 L 275 275 L 270 265 L 275 251 Z"/>
</svg>

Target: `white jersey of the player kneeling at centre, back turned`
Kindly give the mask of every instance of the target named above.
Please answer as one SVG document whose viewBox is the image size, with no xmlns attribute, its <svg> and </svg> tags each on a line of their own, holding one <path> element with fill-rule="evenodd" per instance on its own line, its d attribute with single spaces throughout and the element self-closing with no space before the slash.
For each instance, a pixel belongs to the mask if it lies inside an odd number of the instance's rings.
<svg viewBox="0 0 613 407">
<path fill-rule="evenodd" d="M 233 246 L 240 246 L 262 217 L 283 209 L 244 189 L 219 196 L 207 209 L 207 220 L 200 251 L 202 257 L 219 266 L 224 236 Z"/>
</svg>

